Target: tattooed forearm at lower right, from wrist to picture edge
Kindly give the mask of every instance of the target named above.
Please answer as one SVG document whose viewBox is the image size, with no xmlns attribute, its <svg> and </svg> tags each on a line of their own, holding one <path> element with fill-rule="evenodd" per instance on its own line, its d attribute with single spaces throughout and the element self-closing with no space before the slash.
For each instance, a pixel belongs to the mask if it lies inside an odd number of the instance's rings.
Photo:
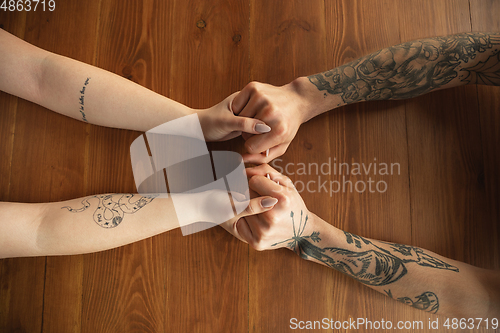
<svg viewBox="0 0 500 333">
<path fill-rule="evenodd" d="M 295 251 L 417 309 L 455 318 L 498 318 L 498 273 L 413 246 L 365 239 L 310 216 Z M 466 288 L 464 288 L 467 286 Z M 496 283 L 498 288 L 498 283 Z"/>
</svg>

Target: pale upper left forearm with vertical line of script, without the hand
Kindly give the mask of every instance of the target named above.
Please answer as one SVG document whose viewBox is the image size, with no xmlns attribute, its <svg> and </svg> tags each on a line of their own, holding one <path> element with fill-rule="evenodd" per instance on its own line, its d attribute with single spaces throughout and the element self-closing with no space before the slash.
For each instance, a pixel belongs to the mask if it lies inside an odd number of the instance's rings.
<svg viewBox="0 0 500 333">
<path fill-rule="evenodd" d="M 41 73 L 39 104 L 92 124 L 147 131 L 193 112 L 121 76 L 59 55 L 48 54 Z"/>
</svg>

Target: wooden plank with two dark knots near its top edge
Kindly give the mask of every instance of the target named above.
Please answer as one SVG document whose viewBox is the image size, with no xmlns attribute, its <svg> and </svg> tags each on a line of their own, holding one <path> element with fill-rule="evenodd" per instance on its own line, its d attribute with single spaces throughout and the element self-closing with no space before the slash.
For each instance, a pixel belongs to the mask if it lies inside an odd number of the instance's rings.
<svg viewBox="0 0 500 333">
<path fill-rule="evenodd" d="M 208 108 L 248 82 L 247 0 L 175 0 L 172 20 L 172 99 Z M 235 142 L 211 147 L 234 150 Z M 175 230 L 164 244 L 166 331 L 247 332 L 247 246 L 222 228 Z"/>
</svg>

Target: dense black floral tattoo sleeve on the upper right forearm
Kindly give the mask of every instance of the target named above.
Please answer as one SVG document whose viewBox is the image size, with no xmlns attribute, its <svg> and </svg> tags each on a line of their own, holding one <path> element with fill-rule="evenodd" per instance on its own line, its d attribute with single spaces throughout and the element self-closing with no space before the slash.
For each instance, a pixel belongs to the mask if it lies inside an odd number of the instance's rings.
<svg viewBox="0 0 500 333">
<path fill-rule="evenodd" d="M 485 61 L 469 64 L 483 53 Z M 411 98 L 455 78 L 500 85 L 500 35 L 465 33 L 407 42 L 308 78 L 346 104 Z"/>
</svg>

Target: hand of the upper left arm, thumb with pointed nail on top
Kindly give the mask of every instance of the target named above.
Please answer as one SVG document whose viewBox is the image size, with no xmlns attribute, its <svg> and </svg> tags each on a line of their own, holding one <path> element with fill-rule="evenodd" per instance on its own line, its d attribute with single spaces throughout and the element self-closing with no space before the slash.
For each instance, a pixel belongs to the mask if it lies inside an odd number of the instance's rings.
<svg viewBox="0 0 500 333">
<path fill-rule="evenodd" d="M 238 93 L 234 93 L 219 104 L 198 113 L 201 128 L 207 141 L 225 141 L 241 135 L 267 133 L 271 130 L 262 120 L 240 117 L 231 111 L 231 102 Z"/>
</svg>

